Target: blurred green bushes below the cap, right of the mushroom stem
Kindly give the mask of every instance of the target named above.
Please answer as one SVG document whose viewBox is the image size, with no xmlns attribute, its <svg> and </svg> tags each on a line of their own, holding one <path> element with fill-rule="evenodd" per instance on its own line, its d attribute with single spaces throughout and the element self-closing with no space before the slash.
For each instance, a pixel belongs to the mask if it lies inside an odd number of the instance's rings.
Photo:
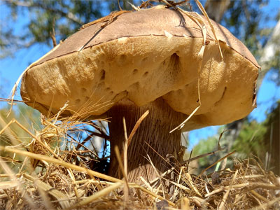
<svg viewBox="0 0 280 210">
<path fill-rule="evenodd" d="M 271 112 L 267 113 L 267 120 L 258 123 L 255 120 L 246 118 L 242 124 L 237 139 L 230 151 L 236 151 L 235 158 L 255 158 L 261 160 L 267 169 L 274 170 L 274 173 L 280 174 L 280 157 L 279 157 L 279 112 L 280 101 Z M 221 133 L 221 130 L 219 131 Z M 221 146 L 228 144 L 227 135 L 223 135 Z M 193 149 L 193 157 L 216 151 L 218 148 L 218 136 L 203 139 Z M 203 169 L 222 158 L 226 153 L 219 152 L 216 155 L 209 155 L 206 158 L 199 159 L 199 169 Z M 267 160 L 269 155 L 269 160 Z M 230 164 L 230 162 L 228 162 Z"/>
</svg>

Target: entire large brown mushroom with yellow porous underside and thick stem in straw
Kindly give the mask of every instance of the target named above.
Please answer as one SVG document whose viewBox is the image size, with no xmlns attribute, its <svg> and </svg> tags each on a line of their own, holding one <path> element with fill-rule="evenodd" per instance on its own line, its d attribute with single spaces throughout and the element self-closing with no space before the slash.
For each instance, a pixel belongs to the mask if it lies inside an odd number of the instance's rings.
<svg viewBox="0 0 280 210">
<path fill-rule="evenodd" d="M 114 146 L 123 149 L 123 117 L 127 133 L 141 115 L 128 147 L 128 179 L 148 181 L 165 172 L 167 155 L 179 153 L 181 130 L 170 131 L 193 113 L 183 130 L 223 125 L 244 118 L 255 108 L 258 63 L 230 31 L 204 17 L 207 34 L 201 69 L 197 55 L 202 29 L 196 13 L 157 6 L 118 13 L 85 25 L 31 65 L 22 78 L 21 95 L 41 113 L 81 118 L 110 118 L 109 174 L 121 178 Z M 200 88 L 197 80 L 200 73 Z M 198 97 L 200 92 L 200 100 Z M 151 158 L 148 162 L 146 154 Z"/>
</svg>

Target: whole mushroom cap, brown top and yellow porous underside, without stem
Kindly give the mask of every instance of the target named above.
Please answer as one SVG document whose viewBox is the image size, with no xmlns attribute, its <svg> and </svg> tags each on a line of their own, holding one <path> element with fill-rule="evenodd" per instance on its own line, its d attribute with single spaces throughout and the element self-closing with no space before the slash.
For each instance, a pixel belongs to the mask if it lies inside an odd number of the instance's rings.
<svg viewBox="0 0 280 210">
<path fill-rule="evenodd" d="M 195 13 L 190 13 L 195 15 Z M 213 22 L 223 59 L 207 21 L 207 45 L 200 71 L 201 107 L 186 130 L 243 118 L 255 107 L 259 66 L 251 52 Z M 167 8 L 123 13 L 70 36 L 28 69 L 22 99 L 43 114 L 84 118 L 106 113 L 120 99 L 144 106 L 162 97 L 190 115 L 199 105 L 198 61 L 203 38 L 187 15 Z"/>
</svg>

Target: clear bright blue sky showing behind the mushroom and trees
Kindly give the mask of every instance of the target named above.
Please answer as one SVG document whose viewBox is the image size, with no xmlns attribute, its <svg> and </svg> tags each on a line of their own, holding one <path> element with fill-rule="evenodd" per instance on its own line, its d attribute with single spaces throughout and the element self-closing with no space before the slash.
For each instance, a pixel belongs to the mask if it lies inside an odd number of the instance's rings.
<svg viewBox="0 0 280 210">
<path fill-rule="evenodd" d="M 269 1 L 269 5 L 262 8 L 267 13 L 274 15 L 279 10 L 280 1 L 272 0 Z M 3 6 L 3 3 L 0 4 L 0 21 L 1 25 L 5 20 L 7 8 Z M 106 14 L 104 14 L 106 15 Z M 28 15 L 22 13 L 19 16 L 18 21 L 15 22 L 15 30 L 17 33 L 20 33 L 24 29 L 24 25 L 29 21 Z M 262 22 L 262 25 L 274 26 L 275 21 Z M 18 79 L 22 71 L 24 71 L 29 64 L 36 61 L 39 57 L 45 55 L 46 52 L 50 50 L 50 47 L 47 45 L 33 45 L 31 48 L 19 50 L 15 52 L 13 57 L 7 57 L 5 59 L 0 59 L 0 86 L 3 87 L 0 92 L 0 97 L 8 97 L 10 90 L 13 87 L 13 84 Z M 277 88 L 272 81 L 268 78 L 272 76 L 271 73 L 267 74 L 265 79 L 262 82 L 260 90 L 258 92 L 258 108 L 251 113 L 251 118 L 261 122 L 265 120 L 265 113 L 267 110 L 275 104 L 277 100 L 280 99 L 280 90 Z M 20 93 L 18 92 L 16 99 L 20 99 Z M 0 107 L 6 106 L 3 102 L 0 102 Z M 190 146 L 197 144 L 199 139 L 206 139 L 209 136 L 216 134 L 218 127 L 207 127 L 202 130 L 195 130 L 190 132 Z"/>
</svg>

